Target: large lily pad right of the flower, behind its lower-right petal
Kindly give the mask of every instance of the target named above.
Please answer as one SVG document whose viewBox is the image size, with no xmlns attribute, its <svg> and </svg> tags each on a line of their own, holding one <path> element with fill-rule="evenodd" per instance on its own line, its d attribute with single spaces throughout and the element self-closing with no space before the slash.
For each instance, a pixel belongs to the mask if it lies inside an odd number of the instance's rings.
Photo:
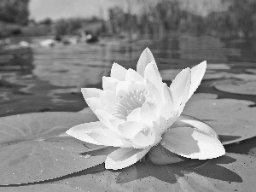
<svg viewBox="0 0 256 192">
<path fill-rule="evenodd" d="M 236 143 L 256 136 L 254 102 L 217 99 L 213 94 L 195 94 L 186 104 L 183 114 L 205 121 L 218 133 L 223 144 Z"/>
</svg>

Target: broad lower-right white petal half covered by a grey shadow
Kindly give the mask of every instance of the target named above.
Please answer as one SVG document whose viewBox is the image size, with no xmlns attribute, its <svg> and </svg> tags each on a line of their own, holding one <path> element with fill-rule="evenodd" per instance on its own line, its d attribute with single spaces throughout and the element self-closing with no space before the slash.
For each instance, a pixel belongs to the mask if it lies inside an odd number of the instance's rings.
<svg viewBox="0 0 256 192">
<path fill-rule="evenodd" d="M 217 137 L 191 127 L 177 127 L 163 134 L 161 145 L 175 154 L 199 160 L 207 160 L 225 154 Z"/>
</svg>

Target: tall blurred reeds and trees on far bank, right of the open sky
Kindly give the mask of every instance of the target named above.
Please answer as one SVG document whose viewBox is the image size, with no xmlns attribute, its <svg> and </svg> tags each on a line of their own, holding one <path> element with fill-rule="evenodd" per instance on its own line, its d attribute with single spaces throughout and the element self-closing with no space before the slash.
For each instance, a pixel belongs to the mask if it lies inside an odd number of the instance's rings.
<svg viewBox="0 0 256 192">
<path fill-rule="evenodd" d="M 250 38 L 256 35 L 256 1 L 224 0 L 226 11 L 207 16 L 195 15 L 182 9 L 182 1 L 161 0 L 154 6 L 143 1 L 143 13 L 132 15 L 119 7 L 109 9 L 109 24 L 113 33 L 158 34 L 189 33 L 222 38 Z"/>
</svg>

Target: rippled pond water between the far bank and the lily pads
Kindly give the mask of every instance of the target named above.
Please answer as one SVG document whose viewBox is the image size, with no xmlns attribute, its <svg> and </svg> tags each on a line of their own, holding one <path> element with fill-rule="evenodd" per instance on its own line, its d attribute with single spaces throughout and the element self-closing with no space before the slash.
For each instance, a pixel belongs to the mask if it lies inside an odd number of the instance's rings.
<svg viewBox="0 0 256 192">
<path fill-rule="evenodd" d="M 163 39 L 102 38 L 97 44 L 56 44 L 41 47 L 44 38 L 28 38 L 30 47 L 0 46 L 0 116 L 44 111 L 79 111 L 86 106 L 80 89 L 102 88 L 102 76 L 109 76 L 113 62 L 136 69 L 143 49 L 154 54 L 160 70 L 183 69 L 207 60 L 208 70 L 247 73 L 256 68 L 255 39 L 221 40 L 212 37 L 180 36 Z M 256 76 L 256 75 L 255 75 Z M 165 79 L 167 84 L 171 81 Z M 256 102 L 253 95 L 216 90 L 209 78 L 198 92 Z"/>
</svg>

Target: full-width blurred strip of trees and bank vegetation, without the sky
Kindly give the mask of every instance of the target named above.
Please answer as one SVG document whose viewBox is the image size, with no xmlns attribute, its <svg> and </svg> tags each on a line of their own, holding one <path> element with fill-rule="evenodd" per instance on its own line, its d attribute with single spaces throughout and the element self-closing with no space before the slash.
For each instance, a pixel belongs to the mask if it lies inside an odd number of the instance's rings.
<svg viewBox="0 0 256 192">
<path fill-rule="evenodd" d="M 0 37 L 38 35 L 76 35 L 81 30 L 101 35 L 133 37 L 134 35 L 165 36 L 170 33 L 212 35 L 221 38 L 251 38 L 256 36 L 256 1 L 223 0 L 230 3 L 222 12 L 207 16 L 191 14 L 182 9 L 178 0 L 161 0 L 153 5 L 137 0 L 143 11 L 139 15 L 120 7 L 108 9 L 108 20 L 45 19 L 29 20 L 29 0 L 0 1 Z"/>
</svg>

